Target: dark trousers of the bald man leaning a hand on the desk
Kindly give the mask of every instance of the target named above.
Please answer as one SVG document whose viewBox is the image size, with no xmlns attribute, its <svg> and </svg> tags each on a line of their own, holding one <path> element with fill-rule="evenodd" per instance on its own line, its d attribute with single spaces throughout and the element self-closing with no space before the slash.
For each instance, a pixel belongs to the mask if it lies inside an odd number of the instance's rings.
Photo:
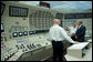
<svg viewBox="0 0 93 62">
<path fill-rule="evenodd" d="M 53 46 L 53 61 L 56 61 L 59 58 L 59 61 L 63 61 L 63 43 L 62 41 L 52 41 Z"/>
</svg>

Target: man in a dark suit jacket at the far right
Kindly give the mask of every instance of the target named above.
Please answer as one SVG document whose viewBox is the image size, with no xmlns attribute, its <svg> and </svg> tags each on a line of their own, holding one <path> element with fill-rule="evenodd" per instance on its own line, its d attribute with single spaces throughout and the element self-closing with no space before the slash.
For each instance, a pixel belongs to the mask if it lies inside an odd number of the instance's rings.
<svg viewBox="0 0 93 62">
<path fill-rule="evenodd" d="M 76 29 L 76 39 L 79 42 L 84 42 L 84 35 L 85 35 L 86 28 L 83 25 L 82 21 L 78 21 L 78 29 Z"/>
</svg>

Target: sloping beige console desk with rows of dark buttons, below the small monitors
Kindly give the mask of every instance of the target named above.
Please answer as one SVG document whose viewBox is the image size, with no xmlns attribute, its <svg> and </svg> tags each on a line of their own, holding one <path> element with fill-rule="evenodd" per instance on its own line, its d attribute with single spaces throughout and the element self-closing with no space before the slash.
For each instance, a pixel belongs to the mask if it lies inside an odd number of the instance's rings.
<svg viewBox="0 0 93 62">
<path fill-rule="evenodd" d="M 51 42 L 45 39 L 46 34 L 48 33 L 38 33 L 27 39 L 1 41 L 1 61 L 17 61 L 27 52 L 51 45 Z"/>
</svg>

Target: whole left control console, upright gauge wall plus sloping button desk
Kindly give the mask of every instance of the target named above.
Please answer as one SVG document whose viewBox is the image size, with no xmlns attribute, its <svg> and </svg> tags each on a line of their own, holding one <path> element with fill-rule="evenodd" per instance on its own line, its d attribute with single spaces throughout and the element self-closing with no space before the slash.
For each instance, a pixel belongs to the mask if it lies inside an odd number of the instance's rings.
<svg viewBox="0 0 93 62">
<path fill-rule="evenodd" d="M 51 45 L 45 37 L 56 11 L 11 1 L 1 6 L 1 61 L 18 61 L 27 52 Z"/>
</svg>

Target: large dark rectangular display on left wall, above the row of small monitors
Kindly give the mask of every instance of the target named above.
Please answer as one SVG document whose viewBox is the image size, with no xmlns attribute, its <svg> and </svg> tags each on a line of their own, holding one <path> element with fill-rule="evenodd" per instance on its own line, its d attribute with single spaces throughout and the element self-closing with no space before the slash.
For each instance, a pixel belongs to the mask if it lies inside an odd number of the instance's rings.
<svg viewBox="0 0 93 62">
<path fill-rule="evenodd" d="M 28 8 L 9 6 L 9 16 L 10 17 L 28 17 Z"/>
</svg>

